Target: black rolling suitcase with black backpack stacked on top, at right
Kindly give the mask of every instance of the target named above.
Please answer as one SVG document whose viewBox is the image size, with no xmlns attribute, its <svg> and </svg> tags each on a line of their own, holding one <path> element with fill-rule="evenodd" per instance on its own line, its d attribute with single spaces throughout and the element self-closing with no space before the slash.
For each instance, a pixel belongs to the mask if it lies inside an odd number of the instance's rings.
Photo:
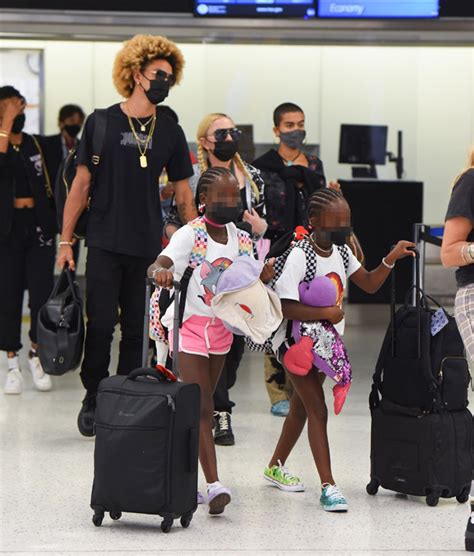
<svg viewBox="0 0 474 556">
<path fill-rule="evenodd" d="M 472 477 L 468 363 L 454 319 L 440 308 L 437 313 L 430 308 L 429 298 L 420 289 L 418 257 L 415 274 L 416 304 L 410 305 L 407 296 L 396 313 L 392 275 L 391 322 L 369 401 L 372 435 L 367 492 L 374 495 L 382 486 L 426 496 L 429 506 L 450 497 L 464 503 Z M 439 317 L 440 311 L 444 316 Z M 435 322 L 444 321 L 436 334 L 432 334 L 433 315 Z"/>
</svg>

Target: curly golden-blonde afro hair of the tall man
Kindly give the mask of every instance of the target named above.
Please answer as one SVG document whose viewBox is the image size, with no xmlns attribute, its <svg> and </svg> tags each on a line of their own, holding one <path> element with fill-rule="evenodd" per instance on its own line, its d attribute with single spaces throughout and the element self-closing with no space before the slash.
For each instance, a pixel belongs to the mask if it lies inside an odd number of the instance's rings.
<svg viewBox="0 0 474 556">
<path fill-rule="evenodd" d="M 176 83 L 183 77 L 184 56 L 176 44 L 166 37 L 135 35 L 123 43 L 115 57 L 112 79 L 119 94 L 129 98 L 135 87 L 133 74 L 153 60 L 166 60 L 173 68 Z"/>
</svg>

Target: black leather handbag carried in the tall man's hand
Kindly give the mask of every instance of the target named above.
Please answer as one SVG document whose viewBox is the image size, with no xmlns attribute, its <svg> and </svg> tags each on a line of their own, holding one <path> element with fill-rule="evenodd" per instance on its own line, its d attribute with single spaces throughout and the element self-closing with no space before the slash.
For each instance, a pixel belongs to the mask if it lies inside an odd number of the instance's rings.
<svg viewBox="0 0 474 556">
<path fill-rule="evenodd" d="M 63 375 L 77 369 L 84 346 L 79 286 L 69 268 L 61 272 L 38 314 L 38 355 L 44 372 Z"/>
</svg>

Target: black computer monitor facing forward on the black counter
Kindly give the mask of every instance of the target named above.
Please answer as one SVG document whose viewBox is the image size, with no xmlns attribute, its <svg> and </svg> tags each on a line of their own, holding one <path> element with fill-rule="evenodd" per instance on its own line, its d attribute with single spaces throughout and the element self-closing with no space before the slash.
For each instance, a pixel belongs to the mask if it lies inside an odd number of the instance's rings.
<svg viewBox="0 0 474 556">
<path fill-rule="evenodd" d="M 385 125 L 342 124 L 339 164 L 385 164 L 387 133 Z"/>
</svg>

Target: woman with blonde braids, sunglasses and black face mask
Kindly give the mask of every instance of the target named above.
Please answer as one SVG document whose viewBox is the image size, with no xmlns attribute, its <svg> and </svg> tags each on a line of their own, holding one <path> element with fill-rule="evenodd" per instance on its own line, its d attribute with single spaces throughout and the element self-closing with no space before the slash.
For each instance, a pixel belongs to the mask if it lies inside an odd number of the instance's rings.
<svg viewBox="0 0 474 556">
<path fill-rule="evenodd" d="M 190 187 L 196 193 L 197 183 L 203 172 L 209 168 L 227 168 L 239 183 L 242 210 L 238 226 L 247 230 L 254 243 L 260 240 L 267 230 L 264 209 L 264 183 L 260 172 L 244 162 L 238 152 L 241 131 L 226 114 L 213 113 L 205 116 L 197 130 L 197 158 L 194 176 Z M 199 207 L 199 200 L 196 197 Z M 176 210 L 170 210 L 165 224 L 168 237 L 181 226 Z M 226 358 L 226 364 L 214 395 L 216 444 L 232 446 L 235 443 L 231 425 L 234 402 L 229 398 L 229 390 L 235 384 L 237 369 L 244 353 L 244 338 L 235 336 L 232 348 Z"/>
</svg>

